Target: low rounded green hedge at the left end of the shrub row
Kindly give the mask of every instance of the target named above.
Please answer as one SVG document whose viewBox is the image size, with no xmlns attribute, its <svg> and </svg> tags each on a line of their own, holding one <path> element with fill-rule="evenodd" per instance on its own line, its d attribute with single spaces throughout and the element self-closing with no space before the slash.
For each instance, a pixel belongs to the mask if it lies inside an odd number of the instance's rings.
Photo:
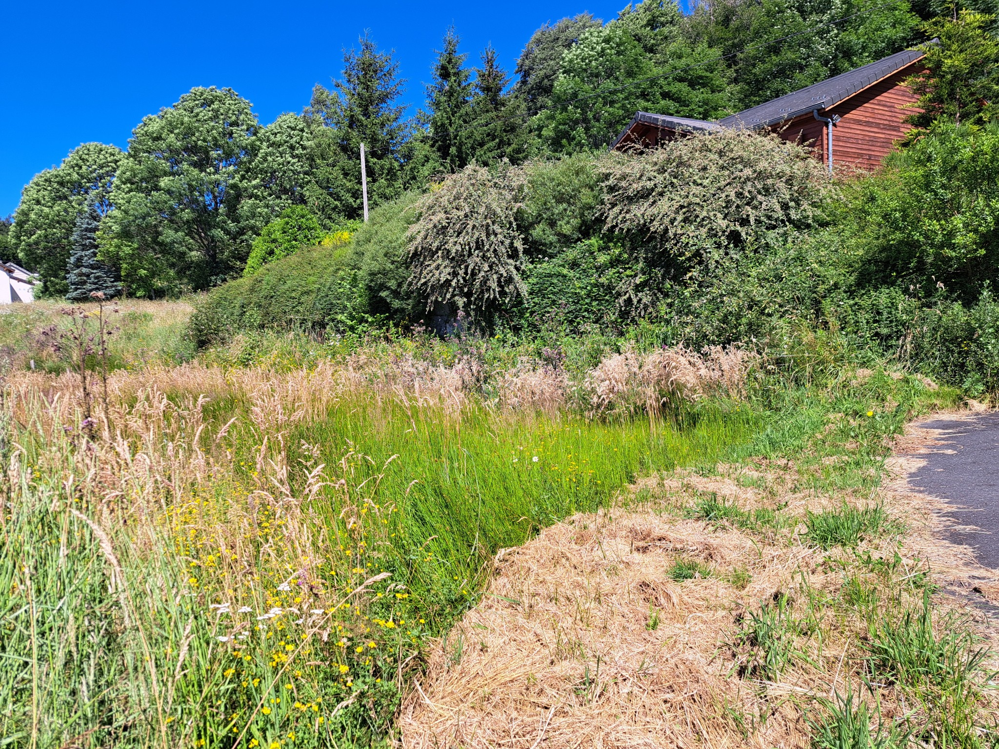
<svg viewBox="0 0 999 749">
<path fill-rule="evenodd" d="M 209 292 L 191 316 L 199 347 L 265 329 L 347 330 L 365 323 L 368 300 L 351 247 L 310 248 Z"/>
</svg>

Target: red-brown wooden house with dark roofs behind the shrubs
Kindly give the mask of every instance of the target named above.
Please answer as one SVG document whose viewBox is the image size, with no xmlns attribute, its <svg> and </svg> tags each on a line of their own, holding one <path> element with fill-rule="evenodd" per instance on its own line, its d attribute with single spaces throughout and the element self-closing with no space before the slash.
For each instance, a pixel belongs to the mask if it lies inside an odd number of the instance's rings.
<svg viewBox="0 0 999 749">
<path fill-rule="evenodd" d="M 722 128 L 771 128 L 810 144 L 823 164 L 872 170 L 911 126 L 916 97 L 904 86 L 919 72 L 923 53 L 905 50 L 717 122 L 638 112 L 613 148 L 654 147 L 688 133 Z"/>
</svg>

